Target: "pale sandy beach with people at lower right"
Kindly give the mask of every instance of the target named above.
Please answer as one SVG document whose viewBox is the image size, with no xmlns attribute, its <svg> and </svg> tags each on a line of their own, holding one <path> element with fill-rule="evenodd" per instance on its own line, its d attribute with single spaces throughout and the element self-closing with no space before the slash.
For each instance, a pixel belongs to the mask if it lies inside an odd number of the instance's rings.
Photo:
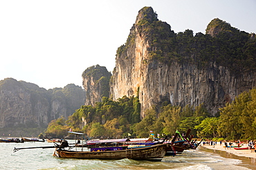
<svg viewBox="0 0 256 170">
<path fill-rule="evenodd" d="M 245 156 L 248 158 L 256 158 L 256 153 L 255 152 L 250 152 L 250 149 L 245 149 L 245 150 L 235 150 L 233 147 L 225 149 L 225 145 L 219 145 L 219 142 L 217 145 L 201 145 L 201 147 L 205 147 L 208 149 L 215 149 L 215 150 L 221 150 L 221 151 L 226 151 L 228 153 L 232 153 L 236 156 Z M 248 147 L 248 145 L 244 145 L 241 147 Z"/>
</svg>

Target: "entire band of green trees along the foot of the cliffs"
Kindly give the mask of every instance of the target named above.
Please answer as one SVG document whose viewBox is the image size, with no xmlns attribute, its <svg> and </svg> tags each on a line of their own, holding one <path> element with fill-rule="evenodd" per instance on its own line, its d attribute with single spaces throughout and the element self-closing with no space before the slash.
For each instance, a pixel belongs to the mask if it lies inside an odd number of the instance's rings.
<svg viewBox="0 0 256 170">
<path fill-rule="evenodd" d="M 256 138 L 256 89 L 243 92 L 235 101 L 220 108 L 220 115 L 211 117 L 199 105 L 184 108 L 164 104 L 161 111 L 148 109 L 140 120 L 137 97 L 119 98 L 118 101 L 103 98 L 95 107 L 82 106 L 65 120 L 53 120 L 46 131 L 47 136 L 62 138 L 67 129 L 81 131 L 89 138 L 146 138 L 149 134 L 172 136 L 178 129 L 185 133 L 188 128 L 195 137 L 226 138 L 227 140 Z M 137 111 L 136 111 L 137 110 Z M 153 137 L 153 136 L 152 136 Z"/>
</svg>

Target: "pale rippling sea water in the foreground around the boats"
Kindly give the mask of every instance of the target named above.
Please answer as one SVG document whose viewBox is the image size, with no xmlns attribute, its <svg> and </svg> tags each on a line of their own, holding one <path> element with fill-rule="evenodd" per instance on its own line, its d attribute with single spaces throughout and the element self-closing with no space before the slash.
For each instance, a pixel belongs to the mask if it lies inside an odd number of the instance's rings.
<svg viewBox="0 0 256 170">
<path fill-rule="evenodd" d="M 53 149 L 19 147 L 53 146 L 50 142 L 0 143 L 0 169 L 256 169 L 256 163 L 244 157 L 226 156 L 199 147 L 176 156 L 165 156 L 161 162 L 146 160 L 88 160 L 55 158 Z M 216 151 L 215 151 L 216 152 Z"/>
</svg>

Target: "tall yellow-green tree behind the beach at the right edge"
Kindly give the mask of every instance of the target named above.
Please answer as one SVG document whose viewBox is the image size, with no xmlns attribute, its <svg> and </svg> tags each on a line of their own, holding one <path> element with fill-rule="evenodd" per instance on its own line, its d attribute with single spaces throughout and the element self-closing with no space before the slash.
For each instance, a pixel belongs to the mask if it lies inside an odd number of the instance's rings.
<svg viewBox="0 0 256 170">
<path fill-rule="evenodd" d="M 255 134 L 256 89 L 243 92 L 235 100 L 220 109 L 221 135 L 230 139 L 253 139 Z"/>
</svg>

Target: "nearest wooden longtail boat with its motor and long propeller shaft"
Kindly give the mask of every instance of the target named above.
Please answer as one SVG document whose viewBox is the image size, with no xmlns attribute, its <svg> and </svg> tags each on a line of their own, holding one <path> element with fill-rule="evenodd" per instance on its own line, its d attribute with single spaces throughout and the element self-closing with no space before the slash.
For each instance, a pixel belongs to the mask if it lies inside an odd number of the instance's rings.
<svg viewBox="0 0 256 170">
<path fill-rule="evenodd" d="M 70 132 L 71 133 L 71 132 Z M 81 133 L 72 132 L 73 134 L 81 135 Z M 170 144 L 157 144 L 157 145 L 149 145 L 147 147 L 138 147 L 138 148 L 128 148 L 125 147 L 98 147 L 98 148 L 90 148 L 89 151 L 83 151 L 82 149 L 77 149 L 75 147 L 76 142 L 73 146 L 68 145 L 66 140 L 62 140 L 60 145 L 55 143 L 55 146 L 47 146 L 47 147 L 28 147 L 28 148 L 15 148 L 15 151 L 19 151 L 21 149 L 37 149 L 37 148 L 55 148 L 53 156 L 58 158 L 83 158 L 83 159 L 123 159 L 129 158 L 133 160 L 154 160 L 161 161 L 165 156 L 167 148 L 170 147 Z M 82 144 L 83 145 L 83 144 Z M 72 150 L 74 149 L 75 150 Z M 69 149 L 65 149 L 69 148 Z M 88 148 L 87 148 L 88 149 Z"/>
</svg>

